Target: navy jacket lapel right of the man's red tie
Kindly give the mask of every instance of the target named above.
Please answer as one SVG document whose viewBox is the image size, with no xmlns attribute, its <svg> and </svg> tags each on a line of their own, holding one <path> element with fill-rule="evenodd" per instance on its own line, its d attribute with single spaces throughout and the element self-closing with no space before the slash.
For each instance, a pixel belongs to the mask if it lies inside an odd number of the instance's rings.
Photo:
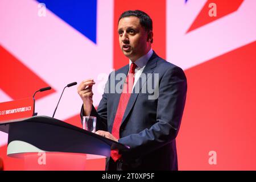
<svg viewBox="0 0 256 182">
<path fill-rule="evenodd" d="M 148 60 L 148 63 L 146 64 L 146 67 L 143 69 L 142 73 L 144 73 L 146 75 L 148 75 L 148 73 L 153 73 L 154 72 L 154 68 L 156 67 L 156 61 L 157 60 L 158 60 L 158 55 L 156 55 L 156 53 L 154 52 L 152 54 L 152 56 L 150 57 L 150 60 Z M 141 76 L 140 76 L 140 78 L 141 78 Z M 148 76 L 147 76 L 147 78 L 148 78 Z M 136 82 L 134 88 L 136 88 L 136 86 L 139 86 L 139 92 L 141 92 L 141 88 L 146 83 L 147 78 L 141 84 L 139 84 L 139 80 L 138 80 Z M 130 113 L 131 108 L 133 108 L 133 105 L 134 105 L 135 101 L 137 100 L 138 94 L 139 93 L 131 93 L 129 102 L 128 102 L 126 110 L 125 110 L 125 114 L 123 114 L 122 123 L 125 121 L 127 115 Z M 117 103 L 117 105 L 118 105 L 118 103 Z M 121 123 L 121 125 L 122 125 L 122 123 Z"/>
</svg>

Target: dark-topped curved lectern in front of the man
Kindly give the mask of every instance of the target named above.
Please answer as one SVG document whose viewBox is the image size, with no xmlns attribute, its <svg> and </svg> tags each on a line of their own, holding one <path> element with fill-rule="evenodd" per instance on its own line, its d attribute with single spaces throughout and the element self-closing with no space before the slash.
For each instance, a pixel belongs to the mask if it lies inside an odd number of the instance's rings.
<svg viewBox="0 0 256 182">
<path fill-rule="evenodd" d="M 0 130 L 9 134 L 7 155 L 24 158 L 28 170 L 86 169 L 88 159 L 106 158 L 112 149 L 129 148 L 47 116 L 3 121 Z"/>
</svg>

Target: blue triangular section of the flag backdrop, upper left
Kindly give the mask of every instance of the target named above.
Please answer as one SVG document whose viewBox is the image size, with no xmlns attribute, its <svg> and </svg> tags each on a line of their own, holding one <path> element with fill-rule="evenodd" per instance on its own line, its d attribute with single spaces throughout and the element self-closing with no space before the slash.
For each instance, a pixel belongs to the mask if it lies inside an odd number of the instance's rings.
<svg viewBox="0 0 256 182">
<path fill-rule="evenodd" d="M 96 43 L 97 0 L 38 0 L 70 26 Z"/>
</svg>

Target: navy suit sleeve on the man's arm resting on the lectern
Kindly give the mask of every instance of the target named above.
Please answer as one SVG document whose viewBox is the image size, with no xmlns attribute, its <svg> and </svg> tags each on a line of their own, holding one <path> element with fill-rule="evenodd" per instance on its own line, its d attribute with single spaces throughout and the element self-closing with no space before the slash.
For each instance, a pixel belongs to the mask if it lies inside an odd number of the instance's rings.
<svg viewBox="0 0 256 182">
<path fill-rule="evenodd" d="M 156 123 L 140 133 L 120 138 L 119 143 L 130 146 L 130 150 L 119 151 L 123 158 L 146 155 L 177 136 L 187 94 L 187 79 L 179 67 L 167 69 L 159 81 L 159 97 Z"/>
</svg>

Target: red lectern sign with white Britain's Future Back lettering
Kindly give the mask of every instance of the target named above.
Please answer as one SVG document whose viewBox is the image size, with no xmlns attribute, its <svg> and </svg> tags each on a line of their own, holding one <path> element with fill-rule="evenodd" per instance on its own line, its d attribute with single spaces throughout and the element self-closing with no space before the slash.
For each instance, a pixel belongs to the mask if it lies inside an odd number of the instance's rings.
<svg viewBox="0 0 256 182">
<path fill-rule="evenodd" d="M 0 123 L 12 119 L 28 118 L 34 114 L 32 97 L 0 103 Z"/>
</svg>

